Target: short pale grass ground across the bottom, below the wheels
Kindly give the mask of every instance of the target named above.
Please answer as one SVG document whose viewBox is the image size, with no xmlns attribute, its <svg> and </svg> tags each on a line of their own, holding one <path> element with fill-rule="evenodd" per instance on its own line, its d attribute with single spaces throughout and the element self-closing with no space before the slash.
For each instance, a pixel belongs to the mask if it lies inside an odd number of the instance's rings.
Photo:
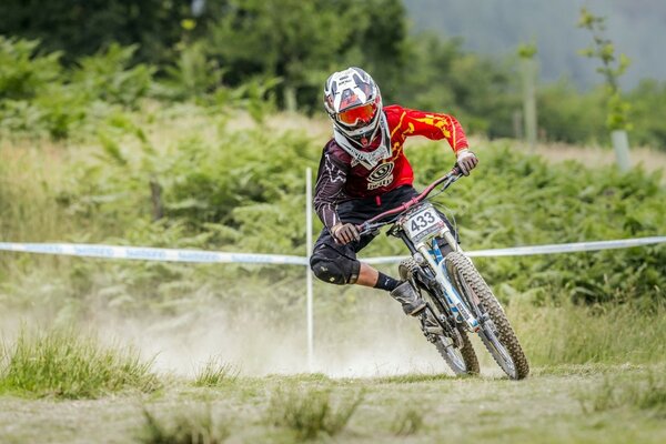
<svg viewBox="0 0 666 444">
<path fill-rule="evenodd" d="M 213 387 L 174 381 L 152 395 L 100 400 L 3 396 L 0 441 L 663 443 L 664 370 L 537 367 L 517 383 L 487 375 L 228 377 Z"/>
</svg>

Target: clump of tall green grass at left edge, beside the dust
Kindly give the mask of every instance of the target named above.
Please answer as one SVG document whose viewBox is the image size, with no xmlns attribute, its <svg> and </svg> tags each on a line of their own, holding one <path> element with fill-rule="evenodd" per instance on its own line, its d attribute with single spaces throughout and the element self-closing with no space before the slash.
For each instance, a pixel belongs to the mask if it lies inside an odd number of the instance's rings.
<svg viewBox="0 0 666 444">
<path fill-rule="evenodd" d="M 151 364 L 132 349 L 103 347 L 72 330 L 22 330 L 13 346 L 3 344 L 0 392 L 64 398 L 148 393 L 161 386 Z"/>
</svg>

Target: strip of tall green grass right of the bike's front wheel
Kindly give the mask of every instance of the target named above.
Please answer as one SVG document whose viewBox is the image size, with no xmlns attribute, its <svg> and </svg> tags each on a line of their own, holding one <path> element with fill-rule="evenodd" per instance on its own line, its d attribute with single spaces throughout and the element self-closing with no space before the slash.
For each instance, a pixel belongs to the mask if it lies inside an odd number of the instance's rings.
<svg viewBox="0 0 666 444">
<path fill-rule="evenodd" d="M 666 356 L 664 306 L 515 304 L 507 314 L 534 365 L 638 364 Z"/>
</svg>

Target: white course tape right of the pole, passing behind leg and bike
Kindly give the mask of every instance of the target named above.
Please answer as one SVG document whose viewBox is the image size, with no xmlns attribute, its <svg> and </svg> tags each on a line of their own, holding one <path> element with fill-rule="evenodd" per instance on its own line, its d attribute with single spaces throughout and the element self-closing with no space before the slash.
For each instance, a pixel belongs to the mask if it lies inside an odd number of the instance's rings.
<svg viewBox="0 0 666 444">
<path fill-rule="evenodd" d="M 578 253 L 582 251 L 628 249 L 630 246 L 650 245 L 666 242 L 666 236 L 622 239 L 617 241 L 598 242 L 576 242 L 559 243 L 549 245 L 515 246 L 512 249 L 477 250 L 466 251 L 465 255 L 470 258 L 490 258 L 490 256 L 526 256 L 533 254 L 554 254 L 554 253 Z M 383 256 L 370 258 L 362 261 L 369 264 L 396 263 L 405 256 Z"/>
</svg>

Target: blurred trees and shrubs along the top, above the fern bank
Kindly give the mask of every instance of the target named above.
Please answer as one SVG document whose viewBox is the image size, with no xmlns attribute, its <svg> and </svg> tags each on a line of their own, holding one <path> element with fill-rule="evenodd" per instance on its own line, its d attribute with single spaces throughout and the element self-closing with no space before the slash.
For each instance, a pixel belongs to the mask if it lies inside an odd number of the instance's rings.
<svg viewBox="0 0 666 444">
<path fill-rule="evenodd" d="M 3 2 L 0 130 L 68 138 L 108 111 L 102 102 L 133 105 L 144 97 L 220 103 L 244 94 L 319 113 L 325 78 L 355 64 L 375 77 L 387 103 L 452 112 L 470 131 L 493 139 L 517 135 L 515 51 L 473 54 L 460 39 L 410 33 L 400 0 L 205 4 L 194 14 L 188 2 L 171 0 Z M 573 32 L 575 18 L 559 26 Z M 577 49 L 571 58 L 579 58 Z M 581 91 L 563 78 L 541 84 L 537 95 L 542 140 L 609 143 L 601 87 Z M 649 79 L 616 98 L 630 104 L 632 144 L 666 150 L 658 120 L 665 99 L 666 84 Z"/>
</svg>

